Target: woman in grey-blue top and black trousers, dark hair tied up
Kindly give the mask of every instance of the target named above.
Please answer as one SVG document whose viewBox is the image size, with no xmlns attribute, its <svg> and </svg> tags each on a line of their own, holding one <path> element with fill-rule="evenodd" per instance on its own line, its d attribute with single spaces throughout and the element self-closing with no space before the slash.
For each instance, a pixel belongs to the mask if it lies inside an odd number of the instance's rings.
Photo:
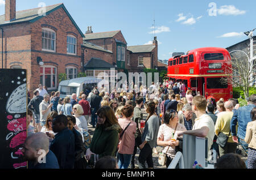
<svg viewBox="0 0 256 180">
<path fill-rule="evenodd" d="M 160 126 L 158 115 L 155 114 L 155 102 L 148 101 L 145 103 L 148 117 L 142 133 L 142 144 L 139 145 L 141 152 L 139 153 L 138 165 L 140 169 L 146 169 L 146 161 L 149 169 L 154 168 L 152 160 L 152 149 L 156 144 L 158 129 Z"/>
</svg>

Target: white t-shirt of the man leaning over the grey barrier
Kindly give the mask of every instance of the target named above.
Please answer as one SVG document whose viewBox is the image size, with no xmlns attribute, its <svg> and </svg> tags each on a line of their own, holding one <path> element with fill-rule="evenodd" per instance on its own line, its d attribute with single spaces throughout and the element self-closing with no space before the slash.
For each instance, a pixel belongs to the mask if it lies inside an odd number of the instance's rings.
<svg viewBox="0 0 256 180">
<path fill-rule="evenodd" d="M 214 122 L 212 121 L 212 118 L 209 117 L 207 114 L 203 114 L 200 118 L 195 119 L 195 125 L 193 126 L 193 130 L 200 129 L 201 127 L 208 127 L 209 132 L 205 138 L 208 138 L 208 160 L 212 158 L 212 153 L 210 152 L 210 148 L 213 144 L 213 138 L 214 138 Z"/>
</svg>

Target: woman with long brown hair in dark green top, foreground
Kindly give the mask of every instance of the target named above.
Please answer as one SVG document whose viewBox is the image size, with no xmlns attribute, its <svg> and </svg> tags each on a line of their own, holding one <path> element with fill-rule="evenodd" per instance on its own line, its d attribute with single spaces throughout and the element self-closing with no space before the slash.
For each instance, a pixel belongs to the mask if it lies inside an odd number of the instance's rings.
<svg viewBox="0 0 256 180">
<path fill-rule="evenodd" d="M 114 111 L 109 106 L 103 106 L 97 112 L 98 122 L 90 147 L 86 149 L 86 160 L 89 165 L 95 165 L 101 157 L 115 156 L 122 128 L 118 124 Z"/>
</svg>

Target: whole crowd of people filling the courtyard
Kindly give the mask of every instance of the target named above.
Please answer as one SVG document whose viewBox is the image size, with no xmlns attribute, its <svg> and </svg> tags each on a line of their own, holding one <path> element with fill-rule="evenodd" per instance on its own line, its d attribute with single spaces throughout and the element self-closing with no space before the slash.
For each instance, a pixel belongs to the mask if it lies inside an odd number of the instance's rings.
<svg viewBox="0 0 256 180">
<path fill-rule="evenodd" d="M 216 102 L 172 80 L 113 92 L 96 86 L 71 98 L 60 98 L 58 91 L 50 96 L 39 84 L 28 104 L 28 137 L 22 152 L 31 169 L 133 169 L 138 149 L 140 169 L 154 168 L 153 151 L 166 154 L 168 168 L 176 153 L 183 151 L 183 135 L 188 134 L 208 138 L 208 160 L 213 151 L 218 157 L 216 168 L 245 168 L 235 154 L 241 143 L 248 153 L 247 168 L 255 169 L 256 95 L 247 101 L 242 107 L 234 98 Z M 88 126 L 95 128 L 92 139 Z M 46 152 L 44 163 L 39 163 L 41 151 Z M 224 167 L 226 158 L 229 164 Z"/>
</svg>

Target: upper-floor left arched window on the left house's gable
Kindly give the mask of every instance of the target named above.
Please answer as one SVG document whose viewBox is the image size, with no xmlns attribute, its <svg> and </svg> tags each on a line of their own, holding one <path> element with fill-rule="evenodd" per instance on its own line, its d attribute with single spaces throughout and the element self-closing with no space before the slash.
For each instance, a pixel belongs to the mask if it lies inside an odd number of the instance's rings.
<svg viewBox="0 0 256 180">
<path fill-rule="evenodd" d="M 42 50 L 56 52 L 56 33 L 52 29 L 42 29 Z"/>
</svg>

